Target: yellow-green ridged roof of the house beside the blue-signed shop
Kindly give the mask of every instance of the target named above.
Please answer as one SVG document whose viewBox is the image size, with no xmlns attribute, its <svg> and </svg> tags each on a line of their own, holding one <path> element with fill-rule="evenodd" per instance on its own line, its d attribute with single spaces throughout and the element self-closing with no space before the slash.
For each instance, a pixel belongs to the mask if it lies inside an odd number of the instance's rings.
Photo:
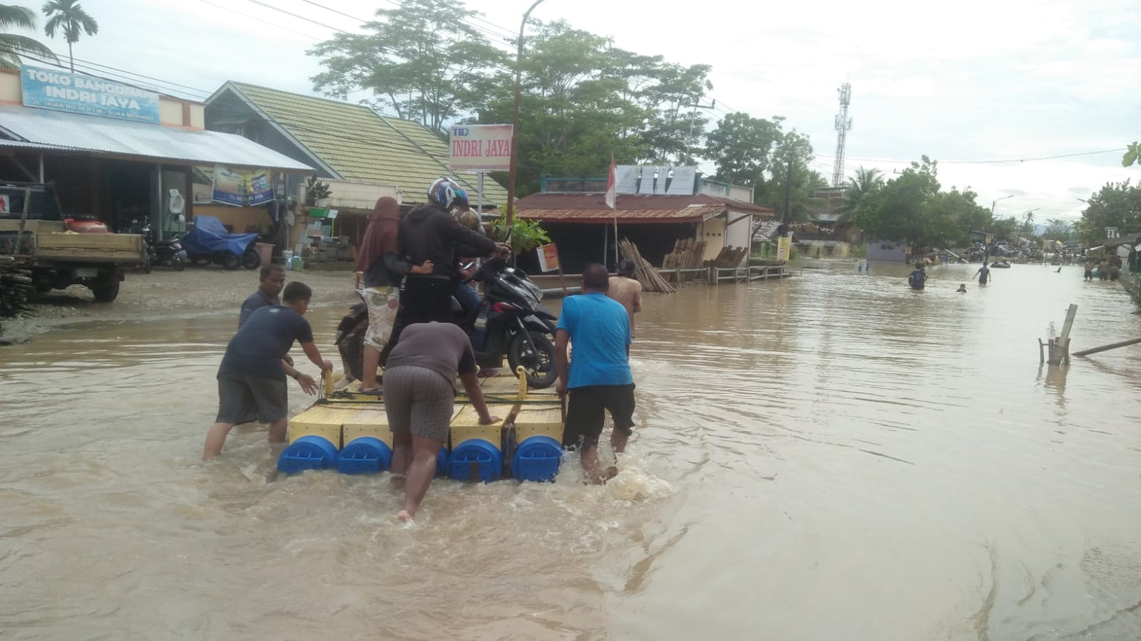
<svg viewBox="0 0 1141 641">
<path fill-rule="evenodd" d="M 347 180 L 396 185 L 404 194 L 404 202 L 422 203 L 434 180 L 452 175 L 447 144 L 419 123 L 383 116 L 362 105 L 244 82 L 232 81 L 227 86 Z M 475 176 L 463 173 L 453 178 L 468 189 L 475 204 Z M 507 189 L 485 178 L 484 202 L 505 201 Z"/>
</svg>

